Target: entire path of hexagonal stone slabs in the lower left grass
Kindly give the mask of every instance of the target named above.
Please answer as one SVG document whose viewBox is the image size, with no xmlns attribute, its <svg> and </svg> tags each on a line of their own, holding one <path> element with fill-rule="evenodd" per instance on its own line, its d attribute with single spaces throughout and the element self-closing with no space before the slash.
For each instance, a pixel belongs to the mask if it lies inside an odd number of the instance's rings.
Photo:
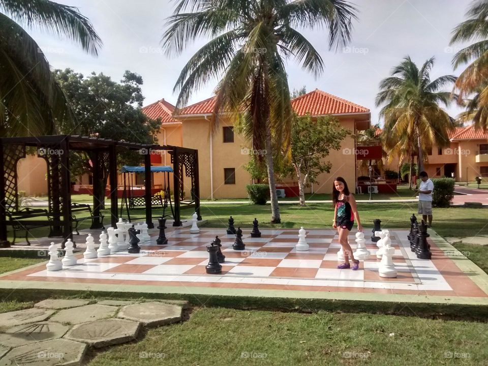
<svg viewBox="0 0 488 366">
<path fill-rule="evenodd" d="M 181 321 L 190 307 L 181 300 L 141 301 L 47 299 L 2 313 L 0 366 L 81 365 L 88 348 L 133 341 L 143 327 Z"/>
</svg>

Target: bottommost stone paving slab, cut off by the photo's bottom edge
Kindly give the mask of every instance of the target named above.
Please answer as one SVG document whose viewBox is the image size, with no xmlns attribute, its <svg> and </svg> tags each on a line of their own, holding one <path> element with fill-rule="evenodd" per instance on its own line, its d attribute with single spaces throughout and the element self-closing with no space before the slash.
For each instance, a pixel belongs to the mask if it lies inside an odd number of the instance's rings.
<svg viewBox="0 0 488 366">
<path fill-rule="evenodd" d="M 81 342 L 56 339 L 17 347 L 9 351 L 0 366 L 80 365 L 87 346 Z"/>
</svg>

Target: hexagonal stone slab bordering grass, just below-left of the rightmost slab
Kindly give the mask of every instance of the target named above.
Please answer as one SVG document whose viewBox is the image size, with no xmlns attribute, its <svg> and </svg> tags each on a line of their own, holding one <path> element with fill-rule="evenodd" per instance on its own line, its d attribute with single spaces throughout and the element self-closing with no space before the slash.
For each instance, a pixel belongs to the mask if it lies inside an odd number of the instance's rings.
<svg viewBox="0 0 488 366">
<path fill-rule="evenodd" d="M 65 338 L 100 348 L 130 342 L 137 337 L 140 328 L 141 324 L 135 321 L 104 319 L 75 325 Z"/>
</svg>

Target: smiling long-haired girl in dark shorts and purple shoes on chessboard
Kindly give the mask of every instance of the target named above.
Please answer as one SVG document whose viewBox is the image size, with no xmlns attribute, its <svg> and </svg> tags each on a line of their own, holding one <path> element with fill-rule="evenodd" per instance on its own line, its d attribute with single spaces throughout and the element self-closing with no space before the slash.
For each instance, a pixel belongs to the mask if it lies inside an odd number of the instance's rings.
<svg viewBox="0 0 488 366">
<path fill-rule="evenodd" d="M 349 192 L 347 183 L 343 177 L 337 177 L 332 185 L 332 204 L 334 205 L 334 220 L 332 226 L 339 232 L 339 243 L 344 252 L 344 263 L 338 265 L 339 269 L 351 268 L 349 258 L 352 261 L 352 270 L 359 268 L 359 260 L 354 259 L 351 246 L 347 240 L 349 232 L 354 225 L 354 218 L 357 221 L 357 231 L 362 231 L 359 221 L 356 199 Z"/>
</svg>

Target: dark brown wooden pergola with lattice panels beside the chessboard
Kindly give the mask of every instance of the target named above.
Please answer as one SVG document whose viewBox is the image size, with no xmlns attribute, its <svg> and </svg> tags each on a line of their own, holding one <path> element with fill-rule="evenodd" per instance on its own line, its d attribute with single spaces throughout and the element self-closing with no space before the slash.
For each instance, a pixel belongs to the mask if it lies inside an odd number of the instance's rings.
<svg viewBox="0 0 488 366">
<path fill-rule="evenodd" d="M 151 206 L 151 171 L 150 154 L 158 150 L 166 150 L 171 155 L 173 164 L 173 195 L 174 195 L 174 223 L 173 226 L 181 226 L 180 201 L 184 188 L 184 174 L 191 180 L 192 204 L 200 215 L 200 185 L 198 173 L 198 150 L 171 146 L 148 145 L 110 139 L 92 138 L 84 136 L 55 135 L 38 137 L 6 137 L 0 138 L 0 247 L 10 247 L 7 240 L 7 226 L 12 222 L 7 218 L 7 212 L 19 211 L 17 163 L 26 156 L 26 147 L 37 148 L 37 156 L 47 163 L 48 201 L 50 220 L 24 220 L 25 225 L 42 225 L 51 227 L 49 236 L 63 237 L 64 242 L 73 240 L 73 226 L 71 219 L 71 192 L 70 192 L 70 151 L 89 152 L 93 157 L 93 180 L 98 181 L 103 174 L 103 168 L 109 169 L 110 187 L 110 222 L 115 227 L 117 218 L 117 150 L 139 150 L 144 155 L 145 177 L 145 222 L 149 228 L 153 228 L 153 207 Z M 98 201 L 98 190 L 105 189 L 94 185 L 93 216 L 100 215 L 101 203 Z M 101 229 L 100 220 L 94 219 L 90 229 Z"/>
</svg>

